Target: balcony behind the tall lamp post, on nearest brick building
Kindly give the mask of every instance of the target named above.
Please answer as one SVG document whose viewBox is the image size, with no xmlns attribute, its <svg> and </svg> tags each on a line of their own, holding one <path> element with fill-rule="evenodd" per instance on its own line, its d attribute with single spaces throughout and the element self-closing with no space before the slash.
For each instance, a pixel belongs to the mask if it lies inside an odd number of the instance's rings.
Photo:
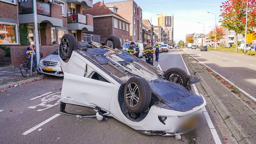
<svg viewBox="0 0 256 144">
<path fill-rule="evenodd" d="M 19 3 L 20 13 L 19 13 L 19 23 L 34 23 L 33 16 L 33 1 L 29 0 L 28 2 Z M 52 9 L 53 6 L 57 6 Z M 41 1 L 36 1 L 37 9 L 37 23 L 47 23 L 47 27 L 62 27 L 63 21 L 60 18 L 54 18 L 51 16 L 52 11 L 62 10 L 62 7 L 52 3 L 43 3 Z"/>
</svg>

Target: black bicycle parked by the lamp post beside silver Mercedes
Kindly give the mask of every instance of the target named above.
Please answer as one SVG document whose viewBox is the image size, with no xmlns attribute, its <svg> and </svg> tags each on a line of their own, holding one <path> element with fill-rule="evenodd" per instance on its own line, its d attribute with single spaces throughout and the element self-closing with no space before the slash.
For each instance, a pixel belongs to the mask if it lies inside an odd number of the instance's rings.
<svg viewBox="0 0 256 144">
<path fill-rule="evenodd" d="M 33 57 L 33 65 L 32 65 L 32 72 L 37 70 L 36 59 L 35 56 Z M 24 77 L 29 77 L 31 72 L 31 55 L 28 56 L 27 61 L 22 62 L 20 65 L 20 72 L 21 75 Z"/>
</svg>

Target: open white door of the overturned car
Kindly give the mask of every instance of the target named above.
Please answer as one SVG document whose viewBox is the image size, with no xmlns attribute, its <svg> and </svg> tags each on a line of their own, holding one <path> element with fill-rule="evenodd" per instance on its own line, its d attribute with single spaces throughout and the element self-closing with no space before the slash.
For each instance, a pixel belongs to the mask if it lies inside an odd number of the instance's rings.
<svg viewBox="0 0 256 144">
<path fill-rule="evenodd" d="M 106 80 L 107 81 L 107 80 Z M 64 73 L 61 102 L 110 109 L 114 84 L 92 78 Z"/>
</svg>

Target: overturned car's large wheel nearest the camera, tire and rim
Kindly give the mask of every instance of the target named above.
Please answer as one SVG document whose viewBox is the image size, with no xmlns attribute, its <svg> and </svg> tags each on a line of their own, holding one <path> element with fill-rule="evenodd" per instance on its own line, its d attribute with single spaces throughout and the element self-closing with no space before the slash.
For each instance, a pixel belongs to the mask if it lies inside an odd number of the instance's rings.
<svg viewBox="0 0 256 144">
<path fill-rule="evenodd" d="M 144 112 L 151 102 L 151 89 L 142 77 L 130 78 L 124 87 L 124 102 L 133 113 Z"/>
</svg>

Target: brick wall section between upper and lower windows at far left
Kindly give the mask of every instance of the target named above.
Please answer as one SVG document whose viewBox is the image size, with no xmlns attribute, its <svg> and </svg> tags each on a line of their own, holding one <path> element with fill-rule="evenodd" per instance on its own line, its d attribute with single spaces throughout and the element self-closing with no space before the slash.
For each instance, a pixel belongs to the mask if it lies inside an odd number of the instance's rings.
<svg viewBox="0 0 256 144">
<path fill-rule="evenodd" d="M 0 17 L 17 20 L 17 6 L 0 1 Z"/>
</svg>

